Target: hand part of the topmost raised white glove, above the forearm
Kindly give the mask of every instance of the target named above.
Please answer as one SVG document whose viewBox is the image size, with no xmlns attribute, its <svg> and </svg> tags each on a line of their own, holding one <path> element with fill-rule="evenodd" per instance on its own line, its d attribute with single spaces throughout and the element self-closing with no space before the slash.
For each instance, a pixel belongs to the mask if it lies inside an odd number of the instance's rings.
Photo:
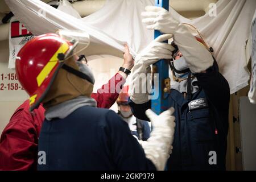
<svg viewBox="0 0 256 182">
<path fill-rule="evenodd" d="M 172 18 L 169 11 L 157 6 L 146 6 L 142 12 L 142 22 L 148 29 L 159 30 L 163 34 L 174 34 L 179 22 Z"/>
</svg>

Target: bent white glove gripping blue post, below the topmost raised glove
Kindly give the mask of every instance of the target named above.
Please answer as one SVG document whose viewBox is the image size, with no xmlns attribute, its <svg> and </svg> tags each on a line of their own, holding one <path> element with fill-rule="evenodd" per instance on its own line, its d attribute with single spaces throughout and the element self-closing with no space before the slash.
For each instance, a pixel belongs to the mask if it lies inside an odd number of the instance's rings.
<svg viewBox="0 0 256 182">
<path fill-rule="evenodd" d="M 131 84 L 129 86 L 130 98 L 135 104 L 143 104 L 148 101 L 146 88 L 150 88 L 150 86 L 147 87 L 147 79 L 142 79 L 140 83 L 140 77 L 147 77 L 147 73 L 150 73 L 151 64 L 156 63 L 160 59 L 171 59 L 174 47 L 167 43 L 162 43 L 171 38 L 172 34 L 160 35 L 135 57 Z"/>
</svg>

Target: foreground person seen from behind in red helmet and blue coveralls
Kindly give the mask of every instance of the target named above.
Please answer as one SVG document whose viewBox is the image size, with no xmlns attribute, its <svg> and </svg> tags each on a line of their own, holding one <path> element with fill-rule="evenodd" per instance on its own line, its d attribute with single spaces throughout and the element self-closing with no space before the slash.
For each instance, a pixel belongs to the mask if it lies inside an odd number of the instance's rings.
<svg viewBox="0 0 256 182">
<path fill-rule="evenodd" d="M 163 170 L 172 148 L 174 109 L 160 115 L 147 110 L 154 129 L 139 143 L 114 111 L 96 107 L 92 71 L 73 57 L 80 38 L 64 32 L 30 40 L 15 63 L 18 80 L 30 95 L 30 111 L 40 103 L 46 108 L 38 169 Z"/>
</svg>

